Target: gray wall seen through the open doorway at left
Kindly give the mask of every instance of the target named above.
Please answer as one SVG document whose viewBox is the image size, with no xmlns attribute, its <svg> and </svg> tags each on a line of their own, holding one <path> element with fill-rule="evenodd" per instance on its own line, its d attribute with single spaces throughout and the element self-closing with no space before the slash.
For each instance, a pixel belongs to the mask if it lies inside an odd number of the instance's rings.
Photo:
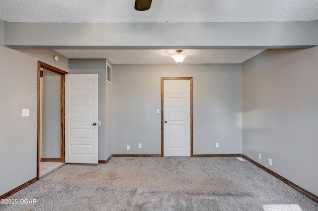
<svg viewBox="0 0 318 211">
<path fill-rule="evenodd" d="M 61 158 L 61 75 L 43 70 L 42 158 Z"/>
</svg>

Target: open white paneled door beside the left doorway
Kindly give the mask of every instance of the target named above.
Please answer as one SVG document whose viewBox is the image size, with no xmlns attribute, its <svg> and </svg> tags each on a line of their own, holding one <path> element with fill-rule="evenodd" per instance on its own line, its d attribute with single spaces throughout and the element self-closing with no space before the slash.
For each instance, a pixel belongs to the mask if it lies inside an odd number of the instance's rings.
<svg viewBox="0 0 318 211">
<path fill-rule="evenodd" d="M 98 163 L 98 74 L 65 75 L 65 162 Z"/>
</svg>

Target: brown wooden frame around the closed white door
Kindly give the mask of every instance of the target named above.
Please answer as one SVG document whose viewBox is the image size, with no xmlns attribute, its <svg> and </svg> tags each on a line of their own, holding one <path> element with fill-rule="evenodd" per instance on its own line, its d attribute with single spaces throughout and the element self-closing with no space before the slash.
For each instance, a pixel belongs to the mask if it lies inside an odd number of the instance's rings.
<svg viewBox="0 0 318 211">
<path fill-rule="evenodd" d="M 163 157 L 163 80 L 190 80 L 190 147 L 193 157 L 193 77 L 161 77 L 161 157 Z"/>
</svg>

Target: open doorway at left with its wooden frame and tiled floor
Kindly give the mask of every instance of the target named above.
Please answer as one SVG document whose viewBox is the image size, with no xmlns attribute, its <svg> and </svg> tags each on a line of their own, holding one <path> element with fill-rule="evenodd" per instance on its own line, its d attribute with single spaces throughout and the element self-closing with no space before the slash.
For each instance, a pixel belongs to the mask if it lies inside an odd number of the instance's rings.
<svg viewBox="0 0 318 211">
<path fill-rule="evenodd" d="M 37 179 L 65 162 L 65 74 L 38 61 Z"/>
</svg>

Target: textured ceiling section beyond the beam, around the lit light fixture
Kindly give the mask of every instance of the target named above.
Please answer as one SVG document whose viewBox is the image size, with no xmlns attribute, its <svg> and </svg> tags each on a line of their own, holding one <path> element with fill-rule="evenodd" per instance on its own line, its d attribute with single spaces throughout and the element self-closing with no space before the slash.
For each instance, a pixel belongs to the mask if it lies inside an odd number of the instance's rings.
<svg viewBox="0 0 318 211">
<path fill-rule="evenodd" d="M 174 50 L 55 50 L 68 58 L 107 58 L 112 64 L 174 64 Z M 235 64 L 261 53 L 262 49 L 183 50 L 183 64 Z"/>
</svg>

